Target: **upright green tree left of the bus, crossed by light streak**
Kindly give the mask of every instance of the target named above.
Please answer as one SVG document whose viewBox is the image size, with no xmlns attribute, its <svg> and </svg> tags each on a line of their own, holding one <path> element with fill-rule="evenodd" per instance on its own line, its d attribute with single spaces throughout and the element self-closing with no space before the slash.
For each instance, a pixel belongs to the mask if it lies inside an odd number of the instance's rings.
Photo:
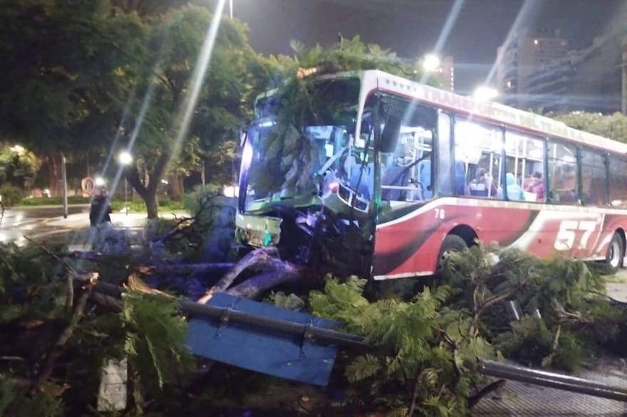
<svg viewBox="0 0 627 417">
<path fill-rule="evenodd" d="M 176 143 L 182 108 L 211 19 L 207 9 L 185 6 L 160 16 L 152 27 L 152 63 L 143 78 L 147 82 L 138 84 L 142 94 L 137 95 L 149 104 L 143 120 L 129 120 L 128 129 L 138 131 L 133 154 L 139 163 L 124 171 L 145 200 L 149 218 L 157 216 L 157 186 L 165 174 L 185 174 L 193 164 L 182 164 L 182 160 L 197 162 L 203 149 L 219 149 L 225 140 L 235 139 L 250 113 L 254 94 L 269 74 L 266 60 L 249 46 L 245 27 L 222 20 L 189 130 L 182 143 Z M 135 107 L 139 110 L 140 103 Z M 140 166 L 147 175 L 140 173 Z"/>
</svg>

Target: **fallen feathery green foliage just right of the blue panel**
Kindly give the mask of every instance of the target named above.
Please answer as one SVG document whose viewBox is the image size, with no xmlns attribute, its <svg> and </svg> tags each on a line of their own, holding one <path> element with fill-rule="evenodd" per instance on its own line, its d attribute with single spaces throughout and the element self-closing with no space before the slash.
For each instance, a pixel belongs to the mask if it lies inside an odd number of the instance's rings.
<svg viewBox="0 0 627 417">
<path fill-rule="evenodd" d="M 326 281 L 312 292 L 315 315 L 343 322 L 348 332 L 362 334 L 374 349 L 349 357 L 348 405 L 390 415 L 458 416 L 467 409 L 473 380 L 465 359 L 494 357 L 492 347 L 462 328 L 469 319 L 443 307 L 449 291 L 428 288 L 410 302 L 395 299 L 369 302 L 366 280 Z"/>
</svg>

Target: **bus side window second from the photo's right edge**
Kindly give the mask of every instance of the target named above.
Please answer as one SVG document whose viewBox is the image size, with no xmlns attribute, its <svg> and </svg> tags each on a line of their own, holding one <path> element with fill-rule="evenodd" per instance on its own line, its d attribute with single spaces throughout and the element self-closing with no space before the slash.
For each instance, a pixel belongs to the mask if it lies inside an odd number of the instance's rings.
<svg viewBox="0 0 627 417">
<path fill-rule="evenodd" d="M 591 149 L 581 149 L 581 191 L 581 202 L 584 204 L 607 204 L 605 157 Z"/>
</svg>

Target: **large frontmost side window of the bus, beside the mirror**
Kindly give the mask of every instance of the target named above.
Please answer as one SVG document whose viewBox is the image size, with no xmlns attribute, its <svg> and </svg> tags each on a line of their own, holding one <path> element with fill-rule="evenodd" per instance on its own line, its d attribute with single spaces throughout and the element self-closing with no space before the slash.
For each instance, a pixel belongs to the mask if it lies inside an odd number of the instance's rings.
<svg viewBox="0 0 627 417">
<path fill-rule="evenodd" d="M 388 108 L 384 120 L 397 122 L 393 133 L 388 129 L 388 134 L 382 134 L 385 143 L 380 147 L 381 199 L 430 199 L 434 194 L 431 167 L 437 112 L 431 107 L 398 97 L 385 97 L 384 100 Z"/>
</svg>

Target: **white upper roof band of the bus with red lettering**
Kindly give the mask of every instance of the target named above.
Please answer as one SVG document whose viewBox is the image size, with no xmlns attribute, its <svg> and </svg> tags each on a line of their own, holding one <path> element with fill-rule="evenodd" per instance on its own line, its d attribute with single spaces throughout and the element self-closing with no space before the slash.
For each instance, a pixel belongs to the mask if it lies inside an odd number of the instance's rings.
<svg viewBox="0 0 627 417">
<path fill-rule="evenodd" d="M 532 130 L 541 136 L 560 137 L 607 151 L 627 154 L 627 144 L 623 142 L 573 129 L 566 126 L 564 122 L 558 122 L 549 117 L 524 112 L 497 102 L 480 102 L 473 97 L 466 97 L 430 87 L 429 85 L 415 83 L 380 70 L 366 70 L 364 73 L 375 73 L 380 90 L 412 97 L 436 107 L 443 107 L 466 115 L 480 117 L 490 122 L 497 122 L 514 128 L 519 127 L 523 130 Z M 370 77 L 365 78 L 368 79 Z M 372 88 L 375 87 L 374 85 L 372 86 Z"/>
</svg>

